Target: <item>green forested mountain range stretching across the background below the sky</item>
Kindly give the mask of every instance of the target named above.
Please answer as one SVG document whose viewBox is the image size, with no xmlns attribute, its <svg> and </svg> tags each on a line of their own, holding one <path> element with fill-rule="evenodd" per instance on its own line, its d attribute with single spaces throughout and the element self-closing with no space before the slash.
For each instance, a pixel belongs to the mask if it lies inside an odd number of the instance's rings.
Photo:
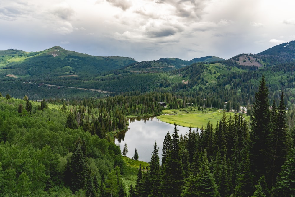
<svg viewBox="0 0 295 197">
<path fill-rule="evenodd" d="M 0 51 L 0 92 L 39 100 L 158 91 L 200 99 L 211 95 L 218 97 L 219 104 L 232 100 L 234 105 L 253 103 L 255 89 L 265 75 L 274 94 L 284 90 L 288 98 L 295 98 L 295 69 L 290 58 L 293 44 L 278 45 L 259 54 L 239 54 L 228 60 L 207 56 L 191 61 L 160 58 L 142 62 L 90 56 L 58 46 L 40 52 L 10 49 Z"/>
</svg>

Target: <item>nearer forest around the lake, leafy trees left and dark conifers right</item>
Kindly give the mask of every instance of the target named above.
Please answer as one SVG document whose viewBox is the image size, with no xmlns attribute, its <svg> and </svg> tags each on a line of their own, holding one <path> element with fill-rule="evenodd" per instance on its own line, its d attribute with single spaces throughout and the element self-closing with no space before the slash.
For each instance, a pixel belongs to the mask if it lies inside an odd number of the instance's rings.
<svg viewBox="0 0 295 197">
<path fill-rule="evenodd" d="M 1 196 L 294 196 L 295 131 L 284 92 L 271 110 L 269 94 L 263 76 L 250 128 L 242 113 L 227 118 L 225 110 L 200 133 L 179 136 L 175 124 L 161 164 L 155 143 L 150 162 L 135 167 L 114 136 L 127 115 L 160 114 L 160 100 L 181 107 L 171 93 L 41 102 L 0 95 Z"/>
</svg>

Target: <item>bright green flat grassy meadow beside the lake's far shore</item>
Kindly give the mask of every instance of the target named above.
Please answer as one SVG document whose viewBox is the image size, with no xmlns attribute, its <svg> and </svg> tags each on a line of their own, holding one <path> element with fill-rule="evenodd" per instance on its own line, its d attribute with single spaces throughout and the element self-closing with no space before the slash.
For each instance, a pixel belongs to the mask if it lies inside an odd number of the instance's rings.
<svg viewBox="0 0 295 197">
<path fill-rule="evenodd" d="M 210 121 L 213 123 L 213 128 L 216 127 L 217 121 L 220 120 L 222 116 L 222 110 L 203 110 L 199 111 L 196 108 L 186 108 L 180 110 L 163 110 L 164 115 L 160 115 L 157 118 L 160 121 L 173 124 L 174 122 L 177 125 L 191 128 L 201 128 L 205 127 Z M 226 112 L 227 118 L 235 116 L 233 112 Z M 250 117 L 244 116 L 247 122 L 249 122 Z"/>
</svg>

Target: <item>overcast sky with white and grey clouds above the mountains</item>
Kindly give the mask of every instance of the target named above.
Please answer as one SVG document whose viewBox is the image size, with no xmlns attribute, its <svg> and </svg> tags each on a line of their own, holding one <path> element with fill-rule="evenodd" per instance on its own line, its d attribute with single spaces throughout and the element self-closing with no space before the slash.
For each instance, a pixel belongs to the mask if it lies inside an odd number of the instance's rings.
<svg viewBox="0 0 295 197">
<path fill-rule="evenodd" d="M 229 59 L 295 40 L 291 0 L 1 0 L 0 50 Z"/>
</svg>

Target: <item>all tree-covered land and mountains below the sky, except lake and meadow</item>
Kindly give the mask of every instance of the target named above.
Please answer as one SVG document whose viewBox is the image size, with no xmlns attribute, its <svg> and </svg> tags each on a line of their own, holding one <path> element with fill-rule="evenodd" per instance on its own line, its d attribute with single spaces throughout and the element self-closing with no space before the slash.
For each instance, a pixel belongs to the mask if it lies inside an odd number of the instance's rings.
<svg viewBox="0 0 295 197">
<path fill-rule="evenodd" d="M 285 45 L 191 61 L 0 51 L 0 196 L 295 196 L 295 42 Z M 150 162 L 115 144 L 128 117 L 192 107 L 222 117 L 180 136 L 175 123 Z"/>
</svg>

